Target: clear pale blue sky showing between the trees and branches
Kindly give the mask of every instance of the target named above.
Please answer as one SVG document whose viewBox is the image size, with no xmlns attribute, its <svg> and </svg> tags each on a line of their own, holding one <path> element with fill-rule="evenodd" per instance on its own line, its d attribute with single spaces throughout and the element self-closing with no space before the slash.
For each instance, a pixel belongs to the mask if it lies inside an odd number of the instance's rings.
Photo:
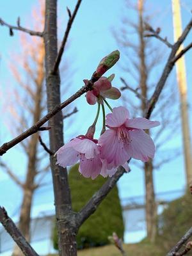
<svg viewBox="0 0 192 256">
<path fill-rule="evenodd" d="M 43 1 L 43 0 L 42 0 Z M 30 27 L 30 13 L 33 6 L 37 4 L 38 1 L 0 1 L 0 17 L 10 24 L 16 24 L 17 17 L 20 17 L 21 24 L 28 24 Z M 187 24 L 191 17 L 190 10 L 192 9 L 191 1 L 182 0 L 182 22 L 183 26 Z M 74 4 L 76 1 L 58 1 L 58 35 L 62 38 L 65 31 L 65 26 L 67 22 L 67 12 L 66 6 L 70 10 L 74 9 Z M 125 1 L 111 1 L 111 0 L 83 0 L 79 12 L 77 13 L 76 20 L 70 31 L 70 36 L 68 38 L 69 46 L 67 52 L 63 56 L 63 61 L 67 60 L 70 67 L 72 67 L 72 77 L 70 88 L 67 92 L 61 95 L 61 100 L 67 99 L 68 96 L 75 93 L 78 88 L 83 86 L 83 79 L 89 79 L 92 76 L 93 71 L 97 67 L 99 61 L 109 54 L 109 52 L 118 49 L 118 44 L 113 36 L 112 31 L 119 31 L 122 26 L 122 17 L 126 17 L 127 8 L 125 8 Z M 134 2 L 136 3 L 136 1 Z M 12 8 L 10 8 L 12 6 Z M 154 28 L 158 26 L 161 27 L 162 36 L 167 36 L 170 42 L 173 42 L 173 31 L 172 31 L 172 8 L 170 0 L 162 1 L 147 1 L 148 12 L 152 13 L 156 10 L 156 19 L 153 20 Z M 136 20 L 135 14 L 129 12 L 130 19 Z M 0 41 L 0 96 L 6 93 L 7 88 L 9 88 L 10 83 L 15 83 L 12 76 L 10 75 L 10 70 L 8 68 L 8 61 L 12 60 L 11 52 L 19 52 L 19 34 L 15 31 L 15 35 L 10 37 L 7 28 L 1 27 L 1 41 Z M 191 33 L 190 33 L 191 35 Z M 133 38 L 134 40 L 134 38 Z M 153 39 L 156 40 L 156 39 Z M 186 40 L 186 44 L 189 43 Z M 159 44 L 159 42 L 157 43 Z M 164 48 L 166 49 L 166 48 Z M 168 49 L 166 51 L 166 56 L 168 54 Z M 190 60 L 192 58 L 192 51 L 186 54 L 186 68 L 188 72 L 188 101 L 190 102 L 192 96 L 192 74 L 189 71 L 191 68 Z M 113 85 L 120 88 L 122 83 L 120 82 L 120 76 L 128 77 L 122 71 L 121 66 L 124 64 L 124 56 L 121 56 L 120 61 L 108 71 L 107 75 L 115 73 L 115 79 Z M 17 65 L 17 63 L 15 63 Z M 159 66 L 157 74 L 161 74 L 163 64 Z M 175 72 L 172 72 L 173 78 L 175 77 Z M 154 74 L 152 77 L 154 83 L 158 80 L 158 77 Z M 173 80 L 174 81 L 174 80 Z M 175 84 L 175 86 L 177 86 Z M 134 95 L 129 93 L 129 97 L 134 99 Z M 7 95 L 6 95 L 7 96 Z M 3 97 L 1 98 L 3 99 Z M 136 98 L 135 98 L 136 99 Z M 4 119 L 6 118 L 6 107 L 9 102 L 4 104 L 3 100 L 0 102 L 1 109 L 1 120 L 0 120 L 0 142 L 3 144 L 12 138 L 12 134 L 8 131 Z M 120 101 L 110 102 L 111 106 L 119 106 L 122 104 Z M 84 99 L 84 95 L 77 99 L 73 103 L 73 106 L 77 106 L 79 109 L 78 113 L 74 117 L 74 122 L 70 125 L 70 120 L 67 120 L 66 131 L 65 131 L 65 141 L 68 141 L 72 136 L 77 136 L 78 132 L 81 134 L 86 132 L 86 129 L 90 124 L 92 124 L 95 118 L 95 113 L 97 111 L 96 106 L 88 106 Z M 191 115 L 191 105 L 189 104 L 190 115 Z M 94 113 L 94 115 L 92 115 Z M 179 116 L 178 116 L 179 118 Z M 190 120 L 191 121 L 191 120 Z M 82 125 L 83 124 L 83 125 Z M 173 124 L 174 126 L 175 124 Z M 192 125 L 192 124 L 191 124 Z M 192 126 L 191 126 L 192 127 Z M 175 127 L 178 130 L 177 134 L 170 141 L 164 141 L 163 154 L 169 156 L 171 152 L 180 148 L 181 154 L 179 154 L 172 162 L 163 164 L 160 166 L 159 170 L 154 172 L 154 184 L 156 193 L 180 190 L 184 189 L 185 173 L 184 173 L 184 157 L 182 154 L 182 138 L 180 136 L 180 127 Z M 99 129 L 97 129 L 97 136 L 99 135 Z M 3 161 L 9 164 L 10 168 L 15 170 L 18 175 L 24 173 L 26 166 L 26 157 L 24 156 L 22 150 L 19 147 L 12 148 L 3 157 Z M 22 163 L 22 165 L 20 164 Z M 124 175 L 118 182 L 118 189 L 120 198 L 127 198 L 130 196 L 143 196 L 145 194 L 145 186 L 143 180 L 143 170 L 137 166 L 131 165 L 131 173 Z M 3 173 L 0 169 L 0 205 L 6 207 L 11 216 L 17 215 L 20 200 L 21 191 L 13 184 L 12 181 Z M 44 189 L 45 193 L 39 192 L 38 195 L 42 195 L 40 202 L 36 205 L 52 204 L 52 195 L 49 192 L 49 198 L 47 198 L 47 192 L 51 191 L 51 185 Z M 37 192 L 38 193 L 38 192 Z M 36 196 L 36 198 L 38 198 Z M 36 210 L 38 211 L 38 210 Z M 34 215 L 36 213 L 34 212 Z"/>
</svg>

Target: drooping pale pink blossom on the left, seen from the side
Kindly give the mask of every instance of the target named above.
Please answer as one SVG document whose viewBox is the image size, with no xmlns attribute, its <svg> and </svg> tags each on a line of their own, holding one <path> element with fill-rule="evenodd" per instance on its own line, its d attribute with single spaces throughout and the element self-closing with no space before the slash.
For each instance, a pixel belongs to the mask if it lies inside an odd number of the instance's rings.
<svg viewBox="0 0 192 256">
<path fill-rule="evenodd" d="M 100 159 L 100 146 L 97 145 L 97 140 L 88 136 L 78 136 L 69 141 L 56 152 L 56 156 L 57 164 L 64 168 L 79 161 L 79 172 L 86 178 L 95 179 L 99 174 L 111 177 L 116 172 L 116 168 Z"/>
</svg>

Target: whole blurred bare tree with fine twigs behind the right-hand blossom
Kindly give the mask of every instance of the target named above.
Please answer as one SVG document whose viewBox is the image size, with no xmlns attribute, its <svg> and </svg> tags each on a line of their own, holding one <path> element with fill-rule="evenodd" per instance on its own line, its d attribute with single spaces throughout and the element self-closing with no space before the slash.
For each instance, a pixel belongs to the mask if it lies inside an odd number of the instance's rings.
<svg viewBox="0 0 192 256">
<path fill-rule="evenodd" d="M 138 22 L 124 18 L 124 25 L 122 26 L 121 33 L 115 33 L 115 38 L 120 45 L 125 56 L 125 76 L 121 77 L 123 83 L 122 90 L 129 90 L 136 95 L 134 100 L 131 99 L 129 93 L 124 92 L 124 102 L 129 104 L 129 108 L 132 109 L 134 115 L 140 113 L 145 116 L 148 106 L 148 97 L 151 94 L 154 81 L 151 79 L 154 74 L 157 74 L 158 68 L 163 64 L 162 56 L 163 50 L 157 44 L 152 45 L 150 38 L 148 37 L 148 29 L 150 25 L 148 22 L 152 19 L 150 15 L 147 15 L 147 8 L 145 9 L 145 1 L 138 0 L 137 5 L 131 3 L 131 1 L 125 1 L 127 4 L 127 12 L 131 10 L 138 15 Z M 157 28 L 154 31 L 159 35 L 161 31 Z M 135 40 L 132 40 L 131 33 L 134 35 Z M 158 42 L 157 42 L 158 43 Z M 127 81 L 131 81 L 127 83 Z M 175 129 L 172 126 L 173 121 L 178 122 L 177 112 L 175 111 L 175 93 L 172 84 L 166 88 L 166 93 L 162 93 L 157 104 L 157 108 L 153 113 L 153 117 L 161 120 L 161 127 L 156 129 L 154 133 L 154 141 L 156 142 L 156 155 L 157 152 L 161 156 L 161 147 L 164 145 L 164 138 L 170 140 L 175 133 Z M 170 100 L 171 98 L 171 100 Z M 128 102 L 128 103 L 127 103 Z M 175 108 L 173 108 L 173 106 Z M 169 109 L 169 110 L 168 110 Z M 149 131 L 147 131 L 149 134 Z M 140 165 L 145 173 L 145 212 L 147 222 L 147 237 L 151 242 L 154 242 L 157 233 L 157 205 L 154 193 L 154 170 L 162 166 L 164 163 L 171 161 L 175 157 L 175 153 L 170 154 L 168 157 L 160 157 L 158 161 L 155 157 L 150 161 Z M 159 162 L 159 163 L 158 163 Z"/>
</svg>

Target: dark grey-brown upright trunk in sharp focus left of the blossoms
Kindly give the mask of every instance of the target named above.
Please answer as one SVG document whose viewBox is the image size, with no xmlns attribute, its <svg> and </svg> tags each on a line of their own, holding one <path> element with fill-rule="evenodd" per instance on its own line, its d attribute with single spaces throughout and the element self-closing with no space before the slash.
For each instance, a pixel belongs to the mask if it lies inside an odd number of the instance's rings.
<svg viewBox="0 0 192 256">
<path fill-rule="evenodd" d="M 51 111 L 60 104 L 60 75 L 51 74 L 57 49 L 57 1 L 45 1 L 45 74 L 47 86 L 47 109 Z M 63 116 L 61 111 L 49 120 L 50 148 L 56 152 L 63 146 Z M 70 188 L 68 186 L 67 170 L 56 165 L 56 158 L 51 156 L 52 180 L 54 186 L 54 203 L 56 206 L 56 224 L 59 237 L 60 256 L 77 255 L 75 214 L 72 212 Z"/>
</svg>

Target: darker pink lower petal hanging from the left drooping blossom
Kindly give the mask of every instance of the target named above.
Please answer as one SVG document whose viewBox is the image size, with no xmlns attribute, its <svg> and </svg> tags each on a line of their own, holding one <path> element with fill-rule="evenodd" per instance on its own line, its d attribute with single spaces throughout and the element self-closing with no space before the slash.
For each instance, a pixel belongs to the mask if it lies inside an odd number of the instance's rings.
<svg viewBox="0 0 192 256">
<path fill-rule="evenodd" d="M 82 157 L 79 164 L 79 172 L 86 178 L 92 177 L 95 179 L 102 168 L 102 163 L 99 156 L 94 158 L 86 159 Z"/>
</svg>

